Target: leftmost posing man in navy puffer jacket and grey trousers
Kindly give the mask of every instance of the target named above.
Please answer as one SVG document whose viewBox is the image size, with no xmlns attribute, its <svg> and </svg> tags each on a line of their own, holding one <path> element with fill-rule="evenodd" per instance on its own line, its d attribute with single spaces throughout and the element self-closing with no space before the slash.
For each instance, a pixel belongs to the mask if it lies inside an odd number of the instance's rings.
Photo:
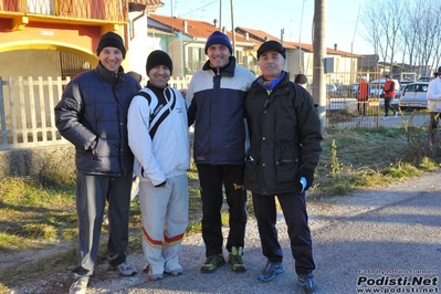
<svg viewBox="0 0 441 294">
<path fill-rule="evenodd" d="M 103 214 L 108 201 L 111 269 L 136 274 L 126 262 L 134 156 L 128 147 L 127 111 L 140 90 L 120 66 L 123 39 L 105 33 L 98 43 L 96 69 L 75 76 L 55 107 L 60 134 L 76 150 L 77 266 L 70 294 L 86 293 L 96 263 Z"/>
</svg>

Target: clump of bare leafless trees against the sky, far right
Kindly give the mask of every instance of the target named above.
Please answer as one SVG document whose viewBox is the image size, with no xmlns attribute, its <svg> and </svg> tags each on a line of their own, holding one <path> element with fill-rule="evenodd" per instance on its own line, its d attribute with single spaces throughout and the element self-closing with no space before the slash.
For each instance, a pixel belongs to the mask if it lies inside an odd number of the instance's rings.
<svg viewBox="0 0 441 294">
<path fill-rule="evenodd" d="M 409 62 L 419 74 L 427 75 L 441 61 L 440 11 L 440 0 L 367 1 L 361 14 L 364 38 L 391 71 L 396 56 L 401 55 L 402 64 Z"/>
</svg>

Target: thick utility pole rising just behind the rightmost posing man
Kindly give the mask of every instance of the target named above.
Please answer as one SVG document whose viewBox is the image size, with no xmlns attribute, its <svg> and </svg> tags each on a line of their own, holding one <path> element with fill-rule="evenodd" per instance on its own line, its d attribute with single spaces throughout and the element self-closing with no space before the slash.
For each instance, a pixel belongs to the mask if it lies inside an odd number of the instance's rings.
<svg viewBox="0 0 441 294">
<path fill-rule="evenodd" d="M 314 8 L 314 70 L 313 70 L 313 97 L 318 104 L 317 113 L 322 127 L 326 127 L 326 78 L 324 60 L 326 56 L 326 2 L 315 0 Z"/>
</svg>

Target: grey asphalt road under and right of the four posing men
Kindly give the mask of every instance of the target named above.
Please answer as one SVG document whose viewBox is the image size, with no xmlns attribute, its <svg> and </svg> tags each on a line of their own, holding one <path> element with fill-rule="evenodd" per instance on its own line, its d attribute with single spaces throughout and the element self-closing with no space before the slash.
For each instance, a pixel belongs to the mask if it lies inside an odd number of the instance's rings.
<svg viewBox="0 0 441 294">
<path fill-rule="evenodd" d="M 321 293 L 439 293 L 440 179 L 441 172 L 432 172 L 351 196 L 308 200 L 317 265 L 314 274 Z M 183 242 L 183 275 L 147 281 L 141 272 L 143 255 L 133 254 L 128 260 L 138 269 L 137 275 L 98 275 L 101 279 L 91 280 L 88 293 L 302 293 L 295 284 L 283 216 L 279 216 L 277 228 L 285 272 L 272 282 L 256 280 L 265 258 L 255 221 L 250 220 L 246 228 L 245 273 L 234 273 L 224 265 L 202 274 L 203 243 L 201 235 L 195 234 Z"/>
</svg>

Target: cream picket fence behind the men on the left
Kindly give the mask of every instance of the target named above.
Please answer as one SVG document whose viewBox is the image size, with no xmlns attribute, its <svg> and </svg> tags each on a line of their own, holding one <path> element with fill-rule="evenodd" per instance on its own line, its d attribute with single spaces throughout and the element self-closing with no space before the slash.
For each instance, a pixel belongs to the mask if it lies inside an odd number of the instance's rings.
<svg viewBox="0 0 441 294">
<path fill-rule="evenodd" d="M 56 129 L 54 107 L 71 78 L 44 78 L 0 76 L 0 150 L 67 143 Z M 187 88 L 189 81 L 176 77 L 169 85 Z"/>
</svg>

